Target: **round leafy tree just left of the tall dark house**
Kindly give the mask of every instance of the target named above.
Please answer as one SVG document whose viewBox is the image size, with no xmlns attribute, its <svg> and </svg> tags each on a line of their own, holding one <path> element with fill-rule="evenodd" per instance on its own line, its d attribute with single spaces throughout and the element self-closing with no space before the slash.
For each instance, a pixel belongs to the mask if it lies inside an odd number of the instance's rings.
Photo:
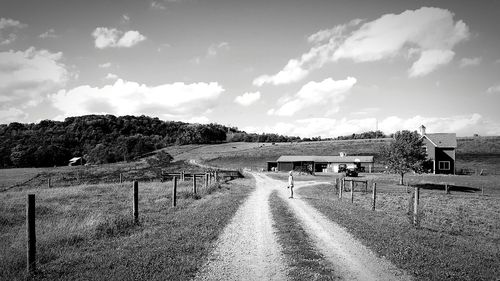
<svg viewBox="0 0 500 281">
<path fill-rule="evenodd" d="M 403 184 L 406 173 L 423 171 L 426 152 L 423 140 L 416 131 L 396 132 L 394 141 L 382 147 L 381 154 L 389 171 L 401 175 L 400 184 Z"/>
</svg>

